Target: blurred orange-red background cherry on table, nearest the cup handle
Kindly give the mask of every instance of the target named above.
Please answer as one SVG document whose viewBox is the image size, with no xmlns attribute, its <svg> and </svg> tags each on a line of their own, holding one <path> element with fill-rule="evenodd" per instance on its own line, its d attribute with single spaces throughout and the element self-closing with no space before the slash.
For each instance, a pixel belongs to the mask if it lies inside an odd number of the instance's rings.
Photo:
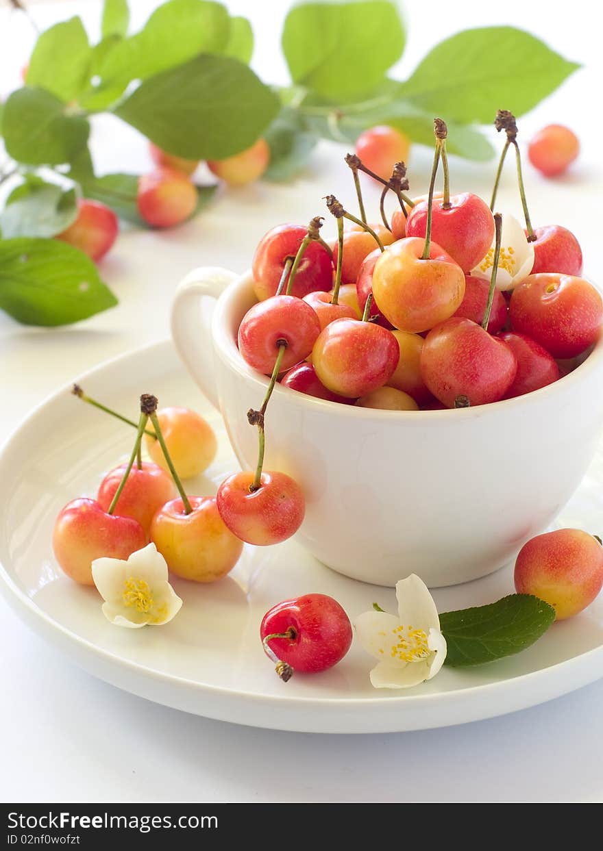
<svg viewBox="0 0 603 851">
<path fill-rule="evenodd" d="M 174 168 L 157 168 L 138 181 L 138 212 L 152 227 L 180 225 L 192 215 L 197 202 L 192 181 Z"/>
</svg>

